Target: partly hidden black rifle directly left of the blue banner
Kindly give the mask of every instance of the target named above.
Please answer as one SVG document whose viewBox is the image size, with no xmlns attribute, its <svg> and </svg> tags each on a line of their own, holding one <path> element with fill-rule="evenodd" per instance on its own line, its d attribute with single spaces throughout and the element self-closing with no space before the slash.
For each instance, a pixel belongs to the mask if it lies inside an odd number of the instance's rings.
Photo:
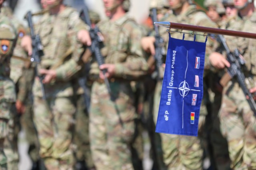
<svg viewBox="0 0 256 170">
<path fill-rule="evenodd" d="M 153 23 L 157 22 L 156 8 L 152 8 L 152 11 L 151 11 L 150 15 L 151 15 Z M 160 68 L 163 64 L 162 54 L 163 54 L 164 39 L 162 39 L 162 37 L 160 37 L 160 35 L 159 35 L 158 25 L 156 25 L 156 24 L 153 24 L 153 25 L 154 25 L 155 39 L 156 39 L 156 41 L 154 43 L 155 51 L 156 51 L 156 54 L 154 55 L 154 59 L 156 61 L 156 72 L 157 72 L 157 78 L 159 80 L 159 78 L 160 78 Z"/>
</svg>

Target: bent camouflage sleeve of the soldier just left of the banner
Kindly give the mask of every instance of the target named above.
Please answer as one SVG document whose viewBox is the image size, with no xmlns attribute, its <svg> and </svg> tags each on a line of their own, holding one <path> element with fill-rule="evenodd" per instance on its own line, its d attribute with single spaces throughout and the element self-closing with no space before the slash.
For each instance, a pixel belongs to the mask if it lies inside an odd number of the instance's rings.
<svg viewBox="0 0 256 170">
<path fill-rule="evenodd" d="M 117 63 L 115 76 L 124 79 L 139 78 L 146 75 L 148 64 L 143 57 L 140 40 L 142 38 L 141 30 L 136 27 L 132 29 L 130 34 L 130 53 L 124 63 Z"/>
</svg>

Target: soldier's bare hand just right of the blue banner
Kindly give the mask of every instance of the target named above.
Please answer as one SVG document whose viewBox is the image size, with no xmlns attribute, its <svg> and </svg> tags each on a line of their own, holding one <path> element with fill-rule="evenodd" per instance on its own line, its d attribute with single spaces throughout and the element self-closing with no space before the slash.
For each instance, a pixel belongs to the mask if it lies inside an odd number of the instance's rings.
<svg viewBox="0 0 256 170">
<path fill-rule="evenodd" d="M 222 54 L 213 52 L 209 56 L 210 63 L 212 66 L 218 69 L 223 69 L 226 67 L 230 67 L 230 63 L 223 57 Z"/>
</svg>

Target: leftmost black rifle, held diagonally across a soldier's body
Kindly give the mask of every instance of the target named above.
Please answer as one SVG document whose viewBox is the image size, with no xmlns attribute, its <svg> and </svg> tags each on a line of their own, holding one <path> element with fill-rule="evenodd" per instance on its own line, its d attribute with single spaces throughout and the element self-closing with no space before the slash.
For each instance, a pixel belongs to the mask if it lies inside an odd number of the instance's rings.
<svg viewBox="0 0 256 170">
<path fill-rule="evenodd" d="M 28 26 L 30 28 L 30 36 L 32 39 L 32 56 L 30 61 L 32 63 L 35 63 L 35 74 L 36 76 L 39 77 L 39 81 L 40 81 L 40 85 L 41 85 L 41 90 L 42 90 L 42 98 L 44 100 L 46 100 L 46 96 L 45 96 L 45 91 L 44 91 L 44 84 L 43 84 L 43 79 L 44 76 L 38 74 L 38 64 L 41 62 L 41 57 L 44 55 L 43 52 L 43 46 L 41 43 L 41 39 L 39 35 L 35 35 L 34 33 L 34 26 L 33 26 L 33 22 L 32 22 L 32 13 L 31 11 L 29 11 L 26 16 L 25 19 L 28 21 Z"/>
</svg>

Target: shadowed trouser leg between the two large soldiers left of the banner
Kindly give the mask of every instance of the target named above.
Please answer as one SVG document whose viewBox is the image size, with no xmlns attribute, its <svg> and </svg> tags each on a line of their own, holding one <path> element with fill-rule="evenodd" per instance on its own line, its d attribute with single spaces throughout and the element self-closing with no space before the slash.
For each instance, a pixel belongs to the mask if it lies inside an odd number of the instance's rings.
<svg viewBox="0 0 256 170">
<path fill-rule="evenodd" d="M 89 139 L 89 113 L 86 110 L 82 95 L 78 96 L 76 106 L 76 127 L 73 139 L 76 145 L 76 161 L 85 161 L 88 168 L 93 168 Z"/>
</svg>

